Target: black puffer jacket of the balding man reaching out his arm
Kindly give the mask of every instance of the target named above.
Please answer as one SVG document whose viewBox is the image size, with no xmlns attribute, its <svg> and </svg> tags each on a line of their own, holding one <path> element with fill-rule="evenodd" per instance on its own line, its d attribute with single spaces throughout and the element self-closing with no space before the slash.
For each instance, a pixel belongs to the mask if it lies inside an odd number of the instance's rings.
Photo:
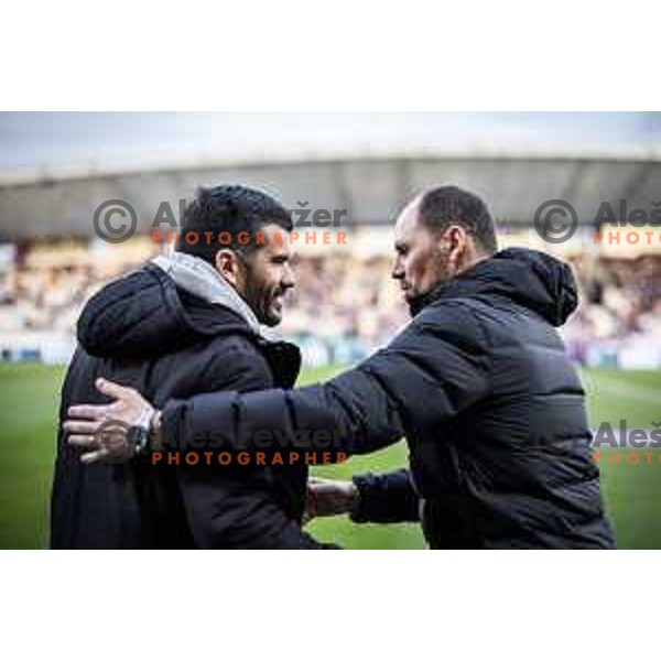
<svg viewBox="0 0 661 661">
<path fill-rule="evenodd" d="M 216 393 L 165 408 L 194 429 L 338 430 L 349 453 L 407 436 L 410 470 L 357 480 L 356 520 L 414 520 L 432 548 L 610 548 L 585 395 L 555 326 L 576 307 L 568 267 L 497 253 L 421 302 L 384 349 L 324 383 Z"/>
</svg>

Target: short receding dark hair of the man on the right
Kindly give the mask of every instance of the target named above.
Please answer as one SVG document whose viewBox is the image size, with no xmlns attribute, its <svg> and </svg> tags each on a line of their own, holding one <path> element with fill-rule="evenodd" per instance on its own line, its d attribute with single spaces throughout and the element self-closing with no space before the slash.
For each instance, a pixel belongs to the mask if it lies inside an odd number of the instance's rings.
<svg viewBox="0 0 661 661">
<path fill-rule="evenodd" d="M 489 254 L 498 250 L 496 226 L 486 203 L 458 186 L 436 186 L 423 193 L 418 207 L 420 221 L 432 231 L 460 225 L 478 247 Z"/>
</svg>

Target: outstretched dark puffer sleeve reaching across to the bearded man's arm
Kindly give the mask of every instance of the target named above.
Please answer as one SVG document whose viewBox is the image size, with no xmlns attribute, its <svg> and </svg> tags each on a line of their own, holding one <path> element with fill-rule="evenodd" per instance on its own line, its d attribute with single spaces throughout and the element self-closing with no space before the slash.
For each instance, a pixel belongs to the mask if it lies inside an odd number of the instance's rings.
<svg viewBox="0 0 661 661">
<path fill-rule="evenodd" d="M 171 401 L 163 410 L 164 434 L 177 447 L 188 447 L 202 432 L 221 435 L 234 449 L 328 449 L 330 438 L 333 451 L 369 453 L 407 430 L 436 430 L 475 403 L 487 390 L 487 355 L 473 315 L 460 304 L 444 304 L 326 383 Z"/>
</svg>

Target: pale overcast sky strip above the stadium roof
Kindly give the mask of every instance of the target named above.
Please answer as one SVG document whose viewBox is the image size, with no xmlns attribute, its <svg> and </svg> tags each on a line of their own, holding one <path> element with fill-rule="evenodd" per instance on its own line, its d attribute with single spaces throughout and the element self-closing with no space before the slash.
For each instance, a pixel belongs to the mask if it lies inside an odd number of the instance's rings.
<svg viewBox="0 0 661 661">
<path fill-rule="evenodd" d="M 0 169 L 365 148 L 661 145 L 651 112 L 1 112 Z"/>
</svg>

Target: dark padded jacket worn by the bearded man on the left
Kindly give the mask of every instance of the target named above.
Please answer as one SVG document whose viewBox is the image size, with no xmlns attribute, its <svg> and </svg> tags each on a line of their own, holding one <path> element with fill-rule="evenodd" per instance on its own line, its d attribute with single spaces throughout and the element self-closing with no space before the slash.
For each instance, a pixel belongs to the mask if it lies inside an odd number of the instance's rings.
<svg viewBox="0 0 661 661">
<path fill-rule="evenodd" d="M 269 343 L 241 316 L 177 288 L 160 268 L 107 285 L 78 323 L 80 347 L 62 393 L 102 402 L 102 376 L 167 399 L 231 389 L 290 388 L 299 350 Z M 79 463 L 61 433 L 52 498 L 56 549 L 315 548 L 301 532 L 306 468 Z"/>
</svg>

